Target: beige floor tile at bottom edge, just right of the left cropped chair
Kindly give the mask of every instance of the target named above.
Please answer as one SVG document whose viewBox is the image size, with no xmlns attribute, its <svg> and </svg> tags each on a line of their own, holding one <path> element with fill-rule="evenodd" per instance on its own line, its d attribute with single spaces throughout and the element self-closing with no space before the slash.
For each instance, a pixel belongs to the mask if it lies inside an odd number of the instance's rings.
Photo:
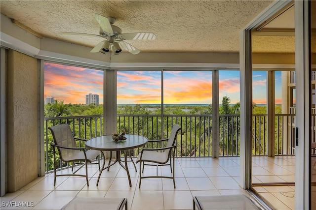
<svg viewBox="0 0 316 210">
<path fill-rule="evenodd" d="M 162 191 L 135 191 L 131 210 L 163 210 Z"/>
</svg>

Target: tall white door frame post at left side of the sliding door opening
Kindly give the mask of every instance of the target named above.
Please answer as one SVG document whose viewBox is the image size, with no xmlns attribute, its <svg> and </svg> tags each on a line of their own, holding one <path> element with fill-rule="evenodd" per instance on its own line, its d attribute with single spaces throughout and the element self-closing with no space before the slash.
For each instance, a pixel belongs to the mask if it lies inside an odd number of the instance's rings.
<svg viewBox="0 0 316 210">
<path fill-rule="evenodd" d="M 251 188 L 252 167 L 252 70 L 251 32 L 242 30 L 240 41 L 240 176 L 239 185 Z"/>
</svg>

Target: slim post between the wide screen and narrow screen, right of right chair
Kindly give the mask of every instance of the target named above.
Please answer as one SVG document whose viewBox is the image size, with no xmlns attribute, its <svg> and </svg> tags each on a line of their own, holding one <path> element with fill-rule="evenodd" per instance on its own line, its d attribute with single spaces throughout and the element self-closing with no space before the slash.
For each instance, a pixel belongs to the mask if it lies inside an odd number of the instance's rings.
<svg viewBox="0 0 316 210">
<path fill-rule="evenodd" d="M 219 157 L 219 75 L 212 71 L 212 158 Z"/>
</svg>

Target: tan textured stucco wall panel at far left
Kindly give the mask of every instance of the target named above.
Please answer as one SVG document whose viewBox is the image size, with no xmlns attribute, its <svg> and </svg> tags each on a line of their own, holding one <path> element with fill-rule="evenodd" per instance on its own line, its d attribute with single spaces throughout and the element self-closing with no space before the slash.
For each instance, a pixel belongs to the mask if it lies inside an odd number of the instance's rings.
<svg viewBox="0 0 316 210">
<path fill-rule="evenodd" d="M 7 69 L 7 187 L 38 177 L 37 59 L 9 50 Z"/>
</svg>

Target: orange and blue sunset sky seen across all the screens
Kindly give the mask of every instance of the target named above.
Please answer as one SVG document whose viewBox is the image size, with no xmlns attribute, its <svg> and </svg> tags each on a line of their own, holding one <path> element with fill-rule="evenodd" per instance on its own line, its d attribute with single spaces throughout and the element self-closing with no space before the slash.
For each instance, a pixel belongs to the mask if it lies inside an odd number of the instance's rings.
<svg viewBox="0 0 316 210">
<path fill-rule="evenodd" d="M 164 104 L 211 104 L 211 71 L 164 71 Z M 276 72 L 276 103 L 281 102 L 281 72 Z M 118 71 L 118 104 L 160 104 L 160 71 Z M 219 98 L 240 101 L 239 71 L 219 71 Z M 253 102 L 266 104 L 267 76 L 253 71 Z M 98 94 L 103 103 L 103 71 L 45 63 L 44 97 L 71 104 L 85 104 L 86 94 Z"/>
</svg>

